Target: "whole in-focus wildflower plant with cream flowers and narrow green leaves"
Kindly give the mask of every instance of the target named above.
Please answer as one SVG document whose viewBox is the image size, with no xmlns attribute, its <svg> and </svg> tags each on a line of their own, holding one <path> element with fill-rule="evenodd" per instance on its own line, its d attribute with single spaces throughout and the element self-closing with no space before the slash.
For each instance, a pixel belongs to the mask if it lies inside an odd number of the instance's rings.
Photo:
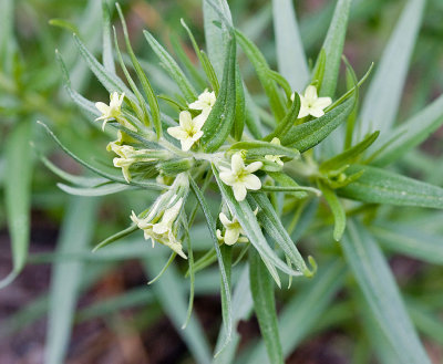
<svg viewBox="0 0 443 364">
<path fill-rule="evenodd" d="M 372 66 L 359 81 L 348 61 L 342 59 L 350 2 L 338 1 L 323 48 L 312 70 L 296 70 L 300 71 L 299 79 L 297 72 L 280 74 L 269 67 L 259 49 L 235 28 L 223 0 L 204 2 L 208 55 L 182 21 L 200 67 L 184 72 L 166 49 L 144 31 L 148 45 L 176 83 L 179 94 L 158 96 L 159 92 L 153 89 L 150 74 L 132 50 L 119 4 L 116 9 L 127 56 L 121 53 L 115 30 L 113 41 L 125 80 L 115 72 L 111 37 L 103 49 L 101 63 L 74 35 L 80 54 L 110 93 L 109 104 L 104 101 L 94 103 L 78 94 L 69 83 L 61 54 L 56 54 L 68 81 L 66 90 L 74 102 L 93 115 L 91 121 L 95 125 L 102 123 L 106 135 L 115 135 L 106 148 L 113 158 L 112 173 L 110 168 L 78 157 L 48 129 L 68 154 L 100 176 L 96 183 L 96 178 L 80 180 L 63 173 L 74 185 L 64 189 L 89 196 L 130 189 L 157 193 L 155 201 L 146 205 L 144 210 L 132 211 L 127 217 L 127 229 L 100 242 L 95 249 L 135 233 L 143 235 L 152 245 L 159 243 L 169 249 L 171 258 L 162 272 L 178 256 L 182 263 L 188 264 L 190 278 L 187 319 L 192 312 L 195 274 L 217 261 L 224 322 L 215 351 L 217 357 L 234 355 L 238 343 L 235 325 L 240 318 L 236 313 L 239 308 L 235 306 L 238 300 L 231 298 L 233 258 L 247 261 L 249 275 L 243 275 L 237 282 L 234 294 L 250 292 L 270 363 L 284 363 L 285 356 L 274 284 L 281 288 L 281 277 L 288 277 L 290 282 L 292 279 L 312 279 L 317 274 L 329 274 L 337 277 L 337 282 L 341 281 L 341 262 L 320 262 L 317 273 L 315 258 L 305 257 L 296 246 L 301 235 L 299 230 L 313 217 L 312 211 L 320 201 L 328 206 L 326 214 L 333 221 L 332 235 L 329 230 L 328 235 L 334 242 L 324 239 L 331 246 L 341 246 L 369 310 L 381 322 L 383 335 L 396 355 L 405 358 L 404 363 L 429 363 L 384 257 L 364 225 L 371 221 L 379 205 L 443 207 L 440 187 L 385 168 L 405 150 L 419 145 L 440 124 L 423 122 L 426 116 L 419 114 L 408 123 L 409 127 L 393 126 L 388 121 L 391 125 L 384 127 L 391 133 L 387 135 L 377 129 L 377 125 L 385 121 L 371 119 L 372 128 L 359 124 L 360 87 Z M 277 4 L 276 13 L 281 14 L 286 6 L 286 1 Z M 104 6 L 103 9 L 105 18 L 109 17 L 107 8 Z M 109 28 L 104 33 L 111 34 Z M 277 31 L 276 35 L 285 42 L 281 33 Z M 214 46 L 218 48 L 217 52 L 210 52 Z M 238 63 L 239 50 L 256 71 L 267 96 L 266 106 L 258 106 L 249 95 Z M 337 95 L 341 60 L 347 66 L 347 90 Z M 194 74 L 200 74 L 204 84 Z M 308 81 L 301 83 L 299 80 Z M 163 107 L 166 104 L 168 107 Z M 53 165 L 51 168 L 56 170 Z M 208 202 L 214 196 L 220 197 L 217 211 Z M 189 231 L 198 217 L 198 207 L 210 232 L 212 245 L 197 259 Z M 321 222 L 323 226 L 328 223 Z M 150 254 L 147 245 L 146 254 Z M 336 257 L 336 260 L 340 259 Z M 374 284 L 372 278 L 380 284 Z M 247 293 L 239 292 L 245 284 Z M 394 309 L 390 306 L 392 302 L 395 302 Z M 249 309 L 253 305 L 248 301 L 244 304 Z M 396 335 L 399 332 L 402 335 Z"/>
</svg>

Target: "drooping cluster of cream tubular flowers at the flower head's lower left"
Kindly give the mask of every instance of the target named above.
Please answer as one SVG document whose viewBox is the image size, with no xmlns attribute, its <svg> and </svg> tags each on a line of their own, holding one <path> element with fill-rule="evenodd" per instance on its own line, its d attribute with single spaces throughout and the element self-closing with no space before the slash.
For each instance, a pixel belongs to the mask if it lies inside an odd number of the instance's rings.
<svg viewBox="0 0 443 364">
<path fill-rule="evenodd" d="M 174 196 L 173 199 L 176 197 Z M 173 231 L 173 225 L 178 217 L 182 209 L 183 197 L 181 197 L 172 207 L 167 208 L 162 217 L 162 220 L 156 223 L 152 223 L 153 216 L 150 214 L 146 218 L 138 218 L 134 211 L 132 211 L 131 219 L 143 230 L 146 240 L 151 239 L 153 247 L 154 242 L 157 241 L 184 259 L 187 259 L 183 251 L 182 242 L 177 240 L 176 233 Z"/>
</svg>

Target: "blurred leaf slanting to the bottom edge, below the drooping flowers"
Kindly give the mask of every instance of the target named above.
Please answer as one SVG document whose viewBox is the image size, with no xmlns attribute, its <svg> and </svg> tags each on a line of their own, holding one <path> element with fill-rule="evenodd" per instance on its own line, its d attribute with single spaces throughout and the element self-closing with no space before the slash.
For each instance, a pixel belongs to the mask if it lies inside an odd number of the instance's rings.
<svg viewBox="0 0 443 364">
<path fill-rule="evenodd" d="M 154 275 L 162 269 L 163 261 L 158 257 L 147 254 L 144 261 L 144 269 Z M 182 330 L 183 319 L 186 318 L 187 302 L 182 284 L 183 278 L 179 275 L 176 267 L 172 264 L 162 275 L 162 281 L 153 284 L 151 288 L 155 292 L 162 309 L 165 311 L 178 335 L 186 343 L 193 355 L 193 361 L 198 364 L 210 363 L 209 344 L 204 335 L 203 327 L 197 318 L 192 314 L 186 330 Z"/>
</svg>

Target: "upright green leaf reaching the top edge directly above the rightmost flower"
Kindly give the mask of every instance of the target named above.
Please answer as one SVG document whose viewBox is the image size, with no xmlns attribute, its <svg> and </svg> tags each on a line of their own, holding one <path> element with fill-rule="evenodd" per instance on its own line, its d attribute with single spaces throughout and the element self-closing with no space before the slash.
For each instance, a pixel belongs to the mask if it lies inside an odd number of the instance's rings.
<svg viewBox="0 0 443 364">
<path fill-rule="evenodd" d="M 333 97 L 336 93 L 351 2 L 352 0 L 339 0 L 337 2 L 331 24 L 324 39 L 322 49 L 324 49 L 327 66 L 324 67 L 320 96 Z"/>
</svg>

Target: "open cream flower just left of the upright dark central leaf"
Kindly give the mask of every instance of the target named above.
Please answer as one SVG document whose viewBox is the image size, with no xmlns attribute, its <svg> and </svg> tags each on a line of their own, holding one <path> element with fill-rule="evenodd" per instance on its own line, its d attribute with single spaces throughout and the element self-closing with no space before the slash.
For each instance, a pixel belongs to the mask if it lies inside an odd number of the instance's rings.
<svg viewBox="0 0 443 364">
<path fill-rule="evenodd" d="M 178 116 L 179 126 L 168 127 L 167 133 L 181 141 L 182 149 L 187 152 L 202 137 L 202 127 L 206 118 L 207 115 L 203 113 L 193 118 L 189 112 L 183 111 Z"/>
</svg>

